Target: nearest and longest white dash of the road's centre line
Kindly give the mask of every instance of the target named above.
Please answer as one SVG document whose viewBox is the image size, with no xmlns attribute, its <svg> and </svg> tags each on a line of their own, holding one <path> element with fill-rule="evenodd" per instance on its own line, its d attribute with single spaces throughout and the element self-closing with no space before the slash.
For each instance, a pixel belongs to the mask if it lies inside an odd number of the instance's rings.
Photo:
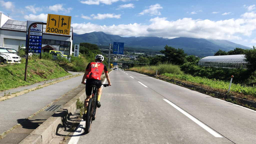
<svg viewBox="0 0 256 144">
<path fill-rule="evenodd" d="M 197 120 L 196 118 L 194 118 L 193 116 L 191 116 L 190 114 L 188 114 L 186 111 L 184 111 L 183 109 L 179 108 L 178 106 L 176 106 L 174 103 L 170 102 L 167 99 L 163 99 L 164 101 L 166 101 L 168 104 L 170 104 L 171 106 L 173 106 L 174 108 L 176 108 L 178 111 L 180 111 L 182 114 L 184 114 L 185 116 L 187 116 L 188 118 L 190 118 L 191 120 L 193 120 L 196 124 L 198 124 L 200 127 L 202 127 L 203 129 L 205 129 L 206 131 L 208 131 L 210 134 L 212 134 L 213 136 L 217 137 L 217 138 L 222 138 L 221 135 L 219 135 L 217 132 L 215 132 L 214 130 L 212 130 L 211 128 L 209 128 L 208 126 L 206 126 L 205 124 L 203 124 L 201 121 Z"/>
</svg>

